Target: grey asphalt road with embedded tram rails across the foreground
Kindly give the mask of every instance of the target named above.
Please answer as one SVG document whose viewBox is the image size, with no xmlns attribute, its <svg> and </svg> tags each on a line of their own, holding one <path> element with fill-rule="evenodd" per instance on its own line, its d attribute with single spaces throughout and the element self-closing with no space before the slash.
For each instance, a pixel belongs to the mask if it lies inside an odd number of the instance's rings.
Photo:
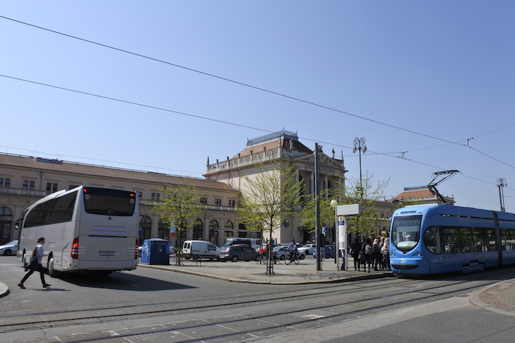
<svg viewBox="0 0 515 343">
<path fill-rule="evenodd" d="M 513 317 L 472 305 L 473 292 L 515 268 L 426 279 L 346 283 L 231 283 L 138 268 L 104 279 L 66 276 L 16 284 L 1 257 L 1 342 L 512 342 Z"/>
</svg>

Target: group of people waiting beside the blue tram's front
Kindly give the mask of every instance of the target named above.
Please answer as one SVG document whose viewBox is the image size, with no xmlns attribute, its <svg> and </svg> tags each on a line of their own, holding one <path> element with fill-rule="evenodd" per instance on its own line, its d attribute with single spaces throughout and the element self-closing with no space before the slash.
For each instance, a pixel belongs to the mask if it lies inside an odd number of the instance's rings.
<svg viewBox="0 0 515 343">
<path fill-rule="evenodd" d="M 371 243 L 372 242 L 372 243 Z M 354 244 L 351 246 L 351 256 L 354 257 L 354 270 L 361 270 L 363 272 L 370 272 L 371 268 L 375 271 L 389 270 L 390 269 L 390 257 L 389 257 L 389 244 L 390 239 L 388 237 L 373 238 L 369 237 L 361 242 L 360 239 L 354 239 Z"/>
</svg>

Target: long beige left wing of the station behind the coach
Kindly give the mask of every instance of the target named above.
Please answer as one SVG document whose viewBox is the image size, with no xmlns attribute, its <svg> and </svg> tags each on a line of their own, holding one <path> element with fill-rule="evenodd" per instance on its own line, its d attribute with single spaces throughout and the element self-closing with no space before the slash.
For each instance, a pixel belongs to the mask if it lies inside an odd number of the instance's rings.
<svg viewBox="0 0 515 343">
<path fill-rule="evenodd" d="M 182 185 L 183 177 L 146 171 L 84 165 L 34 156 L 0 154 L 0 244 L 18 239 L 14 222 L 37 200 L 61 189 L 80 185 L 135 191 L 139 197 L 139 239 L 175 239 L 170 228 L 152 211 L 164 185 Z M 203 212 L 195 219 L 187 239 L 204 239 L 220 245 L 226 237 L 253 237 L 240 225 L 236 213 L 236 190 L 225 183 L 190 178 L 199 192 Z"/>
</svg>

